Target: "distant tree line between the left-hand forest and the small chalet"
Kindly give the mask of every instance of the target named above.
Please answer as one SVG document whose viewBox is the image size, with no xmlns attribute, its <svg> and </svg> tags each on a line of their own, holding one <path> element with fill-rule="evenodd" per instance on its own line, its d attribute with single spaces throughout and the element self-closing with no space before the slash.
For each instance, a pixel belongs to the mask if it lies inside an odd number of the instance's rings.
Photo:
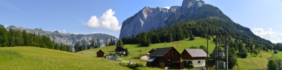
<svg viewBox="0 0 282 70">
<path fill-rule="evenodd" d="M 106 37 L 106 40 L 105 40 L 105 46 L 111 46 L 111 45 L 115 45 L 115 38 L 111 37 L 109 40 L 108 38 Z M 101 47 L 101 42 L 100 42 L 100 39 L 99 38 L 96 38 L 96 40 L 94 38 L 92 38 L 91 40 L 89 40 L 89 42 L 86 42 L 86 41 L 77 41 L 74 48 L 75 48 L 75 52 L 78 52 L 78 51 L 82 51 L 82 50 L 86 50 L 86 49 L 92 49 L 92 48 L 99 48 Z"/>
</svg>

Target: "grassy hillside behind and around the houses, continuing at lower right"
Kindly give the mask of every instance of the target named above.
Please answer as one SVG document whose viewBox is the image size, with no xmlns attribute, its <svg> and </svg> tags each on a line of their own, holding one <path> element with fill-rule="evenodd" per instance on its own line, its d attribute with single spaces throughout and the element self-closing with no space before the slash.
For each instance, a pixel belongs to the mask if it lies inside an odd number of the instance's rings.
<svg viewBox="0 0 282 70">
<path fill-rule="evenodd" d="M 181 53 L 185 48 L 189 48 L 190 46 L 198 46 L 200 44 L 206 46 L 206 38 L 200 38 L 200 37 L 195 37 L 195 40 L 180 40 L 180 41 L 174 41 L 174 42 L 167 42 L 166 46 L 174 46 L 179 53 Z M 204 42 L 204 43 L 203 43 Z M 130 57 L 137 57 L 140 56 L 140 52 L 138 52 L 138 50 L 140 50 L 140 48 L 142 49 L 141 54 L 144 55 L 146 54 L 148 51 L 150 51 L 152 48 L 161 48 L 165 46 L 165 43 L 155 43 L 155 44 L 151 44 L 148 47 L 144 47 L 144 46 L 140 46 L 138 44 L 126 44 L 124 45 L 126 48 L 128 48 L 128 50 L 130 50 Z M 212 41 L 212 39 L 208 40 L 208 51 L 209 53 L 211 53 L 214 48 L 215 48 L 216 44 Z M 87 53 L 93 56 L 96 56 L 96 52 L 98 50 L 103 50 L 106 54 L 109 53 L 114 53 L 114 49 L 115 46 L 107 46 L 107 47 L 102 47 L 102 48 L 95 48 L 95 49 L 89 49 L 89 50 L 84 50 L 84 51 L 80 51 L 78 53 Z M 270 58 L 272 55 L 272 52 L 266 52 L 266 51 L 261 51 L 258 56 L 254 56 L 251 53 L 248 53 L 248 57 L 247 58 L 240 58 L 238 57 L 238 61 L 237 63 L 239 63 L 239 67 L 238 68 L 242 68 L 242 69 L 262 69 L 262 68 L 266 68 L 267 67 L 267 61 L 268 58 Z M 262 57 L 260 57 L 260 55 L 262 55 Z M 129 61 L 129 55 L 125 56 L 125 57 L 119 57 L 122 60 L 128 60 Z M 278 52 L 278 54 L 274 54 L 274 56 L 272 58 L 282 58 L 282 52 Z M 131 59 L 132 62 L 139 62 L 139 59 Z M 146 63 L 146 60 L 142 60 L 142 63 Z M 233 67 L 236 68 L 237 66 Z"/>
</svg>

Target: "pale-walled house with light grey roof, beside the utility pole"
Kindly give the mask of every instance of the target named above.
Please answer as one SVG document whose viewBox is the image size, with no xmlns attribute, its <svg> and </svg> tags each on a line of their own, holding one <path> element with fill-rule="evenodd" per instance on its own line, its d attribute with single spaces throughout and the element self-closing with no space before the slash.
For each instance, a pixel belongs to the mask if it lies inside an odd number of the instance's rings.
<svg viewBox="0 0 282 70">
<path fill-rule="evenodd" d="M 182 60 L 185 67 L 188 66 L 190 63 L 192 63 L 194 67 L 205 66 L 206 52 L 203 49 L 186 48 L 181 54 L 183 55 Z"/>
</svg>

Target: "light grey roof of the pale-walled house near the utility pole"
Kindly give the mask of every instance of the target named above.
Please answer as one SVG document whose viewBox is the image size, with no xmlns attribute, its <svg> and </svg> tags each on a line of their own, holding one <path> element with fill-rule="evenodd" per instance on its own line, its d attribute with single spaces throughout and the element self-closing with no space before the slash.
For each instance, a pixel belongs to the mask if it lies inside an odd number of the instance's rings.
<svg viewBox="0 0 282 70">
<path fill-rule="evenodd" d="M 192 57 L 206 57 L 206 52 L 203 51 L 201 48 L 190 48 L 185 50 L 192 56 Z"/>
</svg>

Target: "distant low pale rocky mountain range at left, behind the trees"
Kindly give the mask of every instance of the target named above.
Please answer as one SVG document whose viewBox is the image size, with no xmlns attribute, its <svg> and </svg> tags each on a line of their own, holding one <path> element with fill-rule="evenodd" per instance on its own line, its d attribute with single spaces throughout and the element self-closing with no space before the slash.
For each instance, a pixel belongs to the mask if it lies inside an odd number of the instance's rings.
<svg viewBox="0 0 282 70">
<path fill-rule="evenodd" d="M 45 35 L 49 36 L 51 40 L 54 39 L 55 42 L 62 42 L 64 44 L 69 44 L 70 46 L 74 46 L 76 42 L 80 41 L 81 43 L 83 41 L 89 42 L 92 38 L 97 40 L 99 38 L 101 42 L 101 47 L 105 46 L 105 40 L 106 38 L 110 40 L 110 38 L 115 38 L 115 42 L 117 42 L 117 38 L 109 35 L 109 34 L 103 34 L 103 33 L 94 33 L 94 34 L 73 34 L 73 33 L 61 33 L 59 31 L 44 31 L 42 28 L 34 28 L 34 29 L 29 29 L 29 28 L 24 28 L 20 26 L 8 26 L 6 29 L 9 31 L 9 29 L 12 28 L 14 30 L 20 29 L 20 30 L 26 30 L 27 32 L 31 33 L 40 33 L 40 35 Z"/>
</svg>

